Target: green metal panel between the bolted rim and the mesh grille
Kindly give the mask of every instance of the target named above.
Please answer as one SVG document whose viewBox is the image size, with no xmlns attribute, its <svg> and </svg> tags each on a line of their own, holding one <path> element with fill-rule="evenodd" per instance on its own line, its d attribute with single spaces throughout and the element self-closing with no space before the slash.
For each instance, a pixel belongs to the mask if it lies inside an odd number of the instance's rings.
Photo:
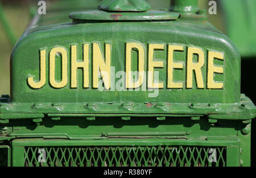
<svg viewBox="0 0 256 178">
<path fill-rule="evenodd" d="M 95 121 L 87 121 L 71 117 L 61 118 L 54 123 L 51 118 L 46 118 L 40 125 L 23 121 L 14 127 L 10 123 L 7 126 L 12 128 L 13 133 L 9 133 L 6 138 L 13 139 L 12 148 L 16 156 L 24 156 L 25 147 L 163 145 L 215 148 L 236 146 L 235 148 L 239 150 L 238 143 L 244 142 L 243 135 L 239 139 L 236 136 L 238 132 L 236 128 L 239 125 L 241 123 L 238 121 L 226 121 L 212 126 L 206 118 L 201 118 L 199 121 L 193 121 L 190 118 L 166 118 L 165 121 L 157 121 L 155 118 L 131 118 L 130 121 L 123 121 L 121 118 L 97 117 Z M 248 136 L 250 134 L 246 138 Z M 242 156 L 247 158 L 248 155 L 243 153 Z M 233 152 L 230 155 L 236 154 Z M 240 156 L 238 157 L 226 159 L 227 165 L 239 165 L 234 162 L 236 159 L 240 160 Z M 24 158 L 19 156 L 15 159 L 20 160 L 13 161 L 14 165 L 24 166 Z M 249 164 L 248 160 L 245 159 L 245 163 Z"/>
</svg>

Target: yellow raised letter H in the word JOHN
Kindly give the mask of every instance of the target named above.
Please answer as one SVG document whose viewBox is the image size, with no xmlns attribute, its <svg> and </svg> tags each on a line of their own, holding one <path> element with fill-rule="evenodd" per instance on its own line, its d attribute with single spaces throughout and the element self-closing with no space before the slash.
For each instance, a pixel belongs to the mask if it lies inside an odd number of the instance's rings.
<svg viewBox="0 0 256 178">
<path fill-rule="evenodd" d="M 89 44 L 83 47 L 84 61 L 77 61 L 77 45 L 71 46 L 71 88 L 77 88 L 77 69 L 84 72 L 84 88 L 89 88 Z"/>
</svg>

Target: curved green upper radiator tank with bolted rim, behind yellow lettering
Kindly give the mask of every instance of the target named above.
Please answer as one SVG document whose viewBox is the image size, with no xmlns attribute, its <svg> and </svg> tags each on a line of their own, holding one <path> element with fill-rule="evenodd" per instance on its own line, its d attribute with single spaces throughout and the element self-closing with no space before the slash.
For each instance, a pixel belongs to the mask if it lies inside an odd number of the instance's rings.
<svg viewBox="0 0 256 178">
<path fill-rule="evenodd" d="M 130 30 L 130 23 L 129 22 L 120 22 L 119 23 L 82 23 L 82 24 L 63 24 L 61 26 L 50 26 L 48 29 L 46 27 L 42 27 L 43 29 L 40 30 L 40 28 L 37 28 L 37 31 L 31 33 L 30 30 L 28 30 L 25 34 L 29 34 L 27 36 L 23 36 L 22 39 L 20 39 L 20 43 L 16 45 L 13 55 L 12 55 L 12 65 L 13 68 L 17 68 L 15 71 L 13 70 L 12 76 L 13 81 L 11 82 L 12 85 L 12 97 L 10 104 L 7 104 L 6 106 L 3 105 L 0 107 L 2 113 L 23 113 L 24 111 L 28 111 L 29 113 L 42 113 L 42 111 L 51 111 L 57 113 L 73 113 L 74 109 L 77 111 L 77 113 L 155 113 L 155 111 L 158 111 L 158 113 L 189 113 L 189 114 L 201 114 L 201 113 L 214 113 L 214 114 L 220 114 L 220 111 L 222 112 L 228 112 L 236 114 L 239 113 L 247 113 L 247 114 L 253 114 L 253 115 L 247 115 L 247 118 L 254 118 L 255 113 L 255 107 L 253 104 L 250 104 L 250 100 L 244 96 L 242 98 L 240 97 L 240 60 L 239 55 L 236 51 L 235 47 L 232 47 L 232 43 L 229 42 L 228 39 L 226 39 L 226 43 L 228 45 L 222 44 L 225 36 L 222 34 L 216 34 L 216 30 L 205 23 L 192 23 L 189 27 L 188 24 L 184 24 L 183 21 L 180 22 L 143 22 L 143 23 L 134 23 L 134 28 Z M 203 26 L 205 24 L 205 26 Z M 136 27 L 135 27 L 136 26 Z M 201 27 L 203 26 L 203 27 Z M 141 34 L 138 35 L 138 31 L 141 28 L 147 28 L 150 31 L 141 32 Z M 199 29 L 204 29 L 204 31 Z M 134 39 L 136 38 L 139 42 L 143 42 L 143 38 L 146 35 L 154 34 L 150 36 L 150 40 L 152 42 L 159 41 L 160 38 L 163 43 L 193 43 L 193 45 L 201 46 L 201 44 L 204 44 L 204 48 L 211 48 L 212 46 L 216 47 L 216 50 L 222 51 L 223 49 L 226 49 L 226 57 L 227 61 L 230 59 L 236 59 L 232 60 L 232 63 L 225 63 L 225 78 L 222 78 L 222 76 L 216 76 L 219 79 L 218 80 L 224 80 L 225 82 L 225 88 L 223 90 L 173 90 L 170 92 L 170 90 L 159 90 L 159 97 L 157 98 L 145 98 L 144 95 L 148 94 L 149 92 L 135 92 L 138 93 L 134 96 L 131 96 L 129 93 L 130 91 L 126 92 L 118 92 L 119 96 L 123 96 L 122 100 L 119 100 L 119 97 L 113 97 L 113 95 L 116 92 L 108 91 L 104 93 L 104 98 L 102 97 L 94 97 L 94 96 L 101 96 L 101 92 L 98 90 L 84 90 L 82 88 L 78 88 L 75 90 L 69 89 L 69 84 L 60 90 L 52 89 L 51 86 L 46 84 L 43 89 L 40 90 L 33 90 L 28 88 L 27 83 L 24 82 L 27 80 L 27 74 L 25 74 L 23 69 L 19 69 L 18 66 L 21 65 L 20 63 L 23 63 L 23 65 L 27 66 L 27 70 L 31 71 L 31 69 L 34 70 L 31 72 L 32 75 L 38 75 L 37 71 L 35 71 L 35 68 L 39 66 L 38 62 L 39 60 L 29 60 L 26 58 L 26 60 L 20 61 L 16 60 L 16 57 L 24 56 L 26 55 L 26 49 L 28 43 L 30 43 L 30 40 L 34 40 L 33 45 L 31 46 L 31 51 L 35 51 L 34 53 L 30 53 L 31 59 L 39 59 L 39 53 L 38 50 L 42 46 L 49 46 L 48 48 L 51 49 L 54 45 L 56 45 L 56 39 L 55 38 L 48 38 L 47 36 L 54 36 L 56 32 L 58 32 L 59 36 L 57 38 L 62 39 L 64 36 L 69 36 L 65 42 L 58 43 L 58 45 L 62 45 L 65 48 L 69 49 L 70 44 L 77 43 L 81 45 L 82 41 L 81 39 L 86 39 L 86 41 L 90 42 L 93 41 L 96 37 L 93 35 L 87 36 L 86 34 L 96 34 L 95 29 L 104 29 L 104 31 L 99 31 L 98 33 L 104 33 L 104 36 L 97 36 L 97 40 L 105 40 L 105 36 L 115 36 L 115 39 L 122 40 L 123 44 L 125 44 L 124 40 Z M 113 32 L 113 29 L 116 31 Z M 138 29 L 138 31 L 135 31 Z M 164 30 L 163 30 L 164 29 Z M 198 30 L 197 30 L 198 29 Z M 207 30 L 213 30 L 207 31 Z M 77 32 L 81 33 L 82 36 L 73 35 Z M 162 31 L 166 31 L 166 33 L 162 33 Z M 195 34 L 198 33 L 197 38 L 195 38 Z M 125 35 L 127 34 L 127 35 Z M 143 34 L 143 35 L 142 35 Z M 175 38 L 172 39 L 173 35 L 175 34 Z M 126 36 L 124 39 L 123 36 Z M 210 37 L 212 35 L 212 37 Z M 143 36 L 143 38 L 142 38 Z M 159 38 L 160 36 L 160 38 Z M 186 38 L 185 38 L 186 36 Z M 47 39 L 43 40 L 42 39 Z M 38 40 L 36 40 L 38 39 Z M 200 39 L 200 40 L 199 40 Z M 211 39 L 214 39 L 213 41 Z M 111 40 L 111 39 L 109 39 Z M 148 40 L 148 39 L 147 39 Z M 146 40 L 146 41 L 147 41 Z M 144 43 L 146 43 L 144 40 Z M 47 44 L 43 44 L 47 43 Z M 229 44 L 230 43 L 230 44 Z M 214 44 L 214 45 L 213 45 Z M 40 46 L 39 46 L 40 45 Z M 101 44 L 103 45 L 103 44 Z M 48 49 L 48 50 L 49 50 Z M 123 45 L 115 44 L 113 42 L 113 49 L 116 49 L 116 51 L 113 53 L 113 58 L 115 56 L 119 56 L 118 51 L 124 51 Z M 79 51 L 81 53 L 81 47 L 79 47 Z M 68 53 L 70 53 L 68 51 Z M 185 53 L 181 53 L 180 57 L 184 59 Z M 90 55 L 91 56 L 91 55 Z M 160 54 L 160 57 L 164 59 L 166 57 L 166 53 Z M 119 58 L 119 61 L 113 61 L 113 66 L 115 66 L 116 71 L 123 70 L 125 67 L 125 56 L 121 56 Z M 185 61 L 184 61 L 185 62 Z M 15 67 L 16 66 L 16 67 Z M 30 67 L 31 66 L 31 67 Z M 33 66 L 33 67 L 32 67 Z M 68 67 L 70 67 L 70 64 L 68 64 Z M 145 67 L 146 68 L 146 67 Z M 237 72 L 234 72 L 237 71 Z M 162 70 L 160 71 L 160 80 L 165 81 L 166 71 Z M 23 73 L 23 80 L 20 80 L 19 74 Z M 203 69 L 204 76 L 206 76 L 206 66 Z M 79 76 L 80 78 L 81 76 Z M 184 80 L 185 78 L 185 72 L 180 72 L 179 76 L 177 76 L 177 80 Z M 229 81 L 228 81 L 229 79 Z M 80 80 L 80 79 L 79 79 Z M 206 81 L 206 78 L 204 78 Z M 195 83 L 195 82 L 194 82 Z M 196 88 L 196 86 L 193 86 Z M 23 88 L 20 90 L 20 88 Z M 233 92 L 231 92 L 231 90 Z M 52 97 L 40 97 L 38 96 L 48 96 L 49 93 L 51 93 Z M 84 94 L 83 94 L 84 93 Z M 200 93 L 200 94 L 199 94 Z M 209 94 L 212 94 L 216 97 L 206 97 Z M 76 97 L 77 94 L 79 94 L 81 97 Z M 65 96 L 65 97 L 61 97 Z M 179 98 L 176 96 L 186 96 L 183 98 Z M 37 98 L 36 102 L 33 98 Z M 170 101 L 168 98 L 172 98 Z M 244 98 L 244 100 L 247 101 L 240 101 Z M 74 100 L 75 99 L 75 100 Z M 54 101 L 56 104 L 51 104 L 49 102 Z M 75 102 L 75 104 L 69 102 Z M 86 101 L 90 101 L 90 105 L 87 106 Z M 105 101 L 105 103 L 104 103 Z M 85 102 L 85 103 L 84 103 Z M 107 103 L 112 102 L 114 105 L 108 105 Z M 117 103 L 119 102 L 119 104 Z M 143 102 L 143 103 L 141 103 Z M 154 107 L 148 108 L 145 102 L 151 102 L 151 103 L 159 103 L 158 105 L 154 105 Z M 193 105 L 191 102 L 195 103 Z M 242 106 L 242 102 L 248 102 L 248 107 L 240 107 Z M 21 105 L 20 105 L 20 104 Z M 92 104 L 94 103 L 94 104 Z M 172 104 L 172 107 L 168 109 L 168 103 Z M 205 104 L 204 104 L 205 103 Z M 133 105 L 131 109 L 129 107 L 127 108 L 126 105 Z M 94 106 L 95 105 L 95 106 Z M 205 106 L 204 106 L 205 105 Z M 121 106 L 121 107 L 120 107 Z M 10 109 L 11 107 L 11 109 Z M 26 108 L 26 109 L 25 109 Z M 176 108 L 176 109 L 175 109 Z M 223 109 L 222 109 L 223 108 Z M 236 109 L 234 109 L 236 108 Z M 243 119 L 244 117 L 240 117 L 240 119 Z"/>
</svg>

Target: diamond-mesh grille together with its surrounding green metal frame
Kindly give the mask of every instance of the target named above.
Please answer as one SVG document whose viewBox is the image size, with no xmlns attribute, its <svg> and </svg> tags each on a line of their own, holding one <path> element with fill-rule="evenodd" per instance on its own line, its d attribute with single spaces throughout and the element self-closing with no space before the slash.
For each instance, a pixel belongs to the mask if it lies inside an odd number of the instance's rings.
<svg viewBox="0 0 256 178">
<path fill-rule="evenodd" d="M 93 147 L 90 145 L 93 142 Z M 130 143 L 133 146 L 130 146 Z M 237 142 L 191 142 L 177 140 L 15 140 L 24 156 L 19 166 L 237 166 L 227 159 L 238 150 Z M 180 144 L 182 146 L 180 146 Z M 47 147 L 51 145 L 51 147 Z M 64 146 L 65 145 L 65 146 Z M 170 146 L 168 146 L 170 145 Z M 38 150 L 44 149 L 46 161 L 38 162 Z M 216 149 L 217 162 L 209 162 L 208 152 Z M 15 150 L 16 151 L 16 150 Z M 18 151 L 18 150 L 17 150 Z M 21 152 L 22 151 L 22 152 Z M 238 152 L 238 151 L 237 151 Z M 182 154 L 181 154 L 182 153 Z M 83 155 L 83 156 L 81 156 Z M 232 158 L 233 159 L 233 158 Z M 21 162 L 20 162 L 21 163 Z"/>
</svg>

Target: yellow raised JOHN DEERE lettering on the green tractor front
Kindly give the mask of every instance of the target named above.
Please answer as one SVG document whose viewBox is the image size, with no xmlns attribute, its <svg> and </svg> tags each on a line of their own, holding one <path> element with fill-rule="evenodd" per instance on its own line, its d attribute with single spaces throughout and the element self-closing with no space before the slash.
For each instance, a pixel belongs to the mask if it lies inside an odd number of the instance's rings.
<svg viewBox="0 0 256 178">
<path fill-rule="evenodd" d="M 92 46 L 92 48 L 90 48 L 90 46 Z M 126 69 L 125 86 L 127 89 L 141 87 L 146 77 L 147 88 L 150 89 L 162 89 L 164 86 L 166 86 L 167 89 L 183 89 L 184 87 L 186 89 L 192 89 L 193 82 L 196 84 L 196 89 L 223 89 L 223 82 L 214 81 L 214 73 L 223 74 L 224 67 L 213 64 L 214 60 L 224 60 L 224 53 L 222 52 L 208 50 L 207 53 L 205 53 L 200 47 L 186 47 L 185 45 L 160 43 L 148 44 L 148 48 L 144 47 L 141 43 L 126 43 L 125 46 L 125 52 L 121 53 L 125 55 L 123 56 L 123 58 L 125 58 L 125 66 L 123 66 L 123 68 Z M 90 52 L 90 49 L 92 49 L 92 52 Z M 83 88 L 89 88 L 89 81 L 91 81 L 92 87 L 97 89 L 99 76 L 102 76 L 105 88 L 108 90 L 110 86 L 112 86 L 110 68 L 112 66 L 112 60 L 114 60 L 112 59 L 112 52 L 114 50 L 117 49 L 113 49 L 112 44 L 105 44 L 104 50 L 104 48 L 102 49 L 102 47 L 100 47 L 99 43 L 84 43 L 82 50 L 78 50 L 77 45 L 71 45 L 70 51 L 61 46 L 53 47 L 50 50 L 41 49 L 39 59 L 40 69 L 38 70 L 40 72 L 40 81 L 36 81 L 35 77 L 29 74 L 27 79 L 28 85 L 31 88 L 40 89 L 46 84 L 46 78 L 49 76 L 49 84 L 52 88 L 64 88 L 67 86 L 68 82 L 70 82 L 71 88 L 75 89 L 77 88 L 77 82 L 82 82 L 77 81 L 77 69 L 81 68 L 83 69 Z M 166 85 L 164 85 L 164 82 L 156 82 L 155 80 L 155 69 L 164 69 L 163 61 L 154 60 L 156 50 L 166 52 Z M 83 60 L 77 61 L 77 51 L 82 52 Z M 105 53 L 102 51 L 105 51 Z M 137 53 L 137 57 L 134 57 L 132 52 Z M 92 59 L 89 59 L 89 53 L 92 53 Z M 183 62 L 174 62 L 174 53 L 185 53 L 185 63 L 184 59 Z M 46 67 L 47 56 L 49 56 L 49 69 Z M 61 61 L 61 70 L 56 68 L 56 57 L 59 57 Z M 70 57 L 70 59 L 68 59 L 68 57 Z M 195 57 L 197 58 L 196 62 L 193 60 Z M 133 81 L 133 77 L 131 76 L 131 64 L 135 62 L 138 63 L 137 72 L 139 73 L 139 77 L 137 81 Z M 70 65 L 68 65 L 68 63 L 70 63 Z M 89 74 L 89 63 L 92 64 L 92 74 Z M 144 65 L 146 63 L 147 71 L 145 71 Z M 186 67 L 184 67 L 185 64 Z M 207 67 L 204 67 L 205 65 L 207 65 Z M 70 70 L 68 70 L 68 66 L 71 66 Z M 177 80 L 175 80 L 174 71 L 177 69 L 182 69 L 186 72 L 183 82 L 179 80 L 179 82 L 177 82 Z M 46 75 L 47 71 L 49 72 L 48 75 Z M 68 71 L 71 71 L 71 73 L 68 73 Z M 206 82 L 203 80 L 202 72 L 207 74 Z M 56 74 L 61 76 L 61 80 L 56 80 Z M 195 76 L 195 81 L 193 80 L 193 75 Z M 92 78 L 90 79 L 89 76 L 92 76 Z"/>
</svg>

